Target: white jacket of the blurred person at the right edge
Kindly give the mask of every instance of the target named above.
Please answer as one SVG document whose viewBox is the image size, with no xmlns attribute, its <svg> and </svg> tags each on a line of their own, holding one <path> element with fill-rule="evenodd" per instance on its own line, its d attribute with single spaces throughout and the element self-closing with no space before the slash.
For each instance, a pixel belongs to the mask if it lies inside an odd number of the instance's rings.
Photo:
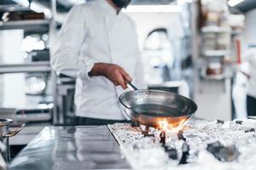
<svg viewBox="0 0 256 170">
<path fill-rule="evenodd" d="M 256 98 L 256 48 L 249 48 L 242 56 L 243 61 L 250 65 L 250 78 L 248 82 L 247 94 Z"/>
</svg>

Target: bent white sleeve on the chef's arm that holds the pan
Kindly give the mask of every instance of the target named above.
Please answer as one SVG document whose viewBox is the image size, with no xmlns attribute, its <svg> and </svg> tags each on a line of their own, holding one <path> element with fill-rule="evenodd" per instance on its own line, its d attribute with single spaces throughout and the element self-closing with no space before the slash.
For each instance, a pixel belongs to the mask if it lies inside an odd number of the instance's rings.
<svg viewBox="0 0 256 170">
<path fill-rule="evenodd" d="M 88 33 L 87 16 L 82 6 L 73 7 L 67 15 L 67 20 L 51 49 L 51 65 L 57 74 L 78 77 L 84 81 L 90 79 L 88 73 L 96 61 L 90 56 L 80 55 Z"/>
</svg>

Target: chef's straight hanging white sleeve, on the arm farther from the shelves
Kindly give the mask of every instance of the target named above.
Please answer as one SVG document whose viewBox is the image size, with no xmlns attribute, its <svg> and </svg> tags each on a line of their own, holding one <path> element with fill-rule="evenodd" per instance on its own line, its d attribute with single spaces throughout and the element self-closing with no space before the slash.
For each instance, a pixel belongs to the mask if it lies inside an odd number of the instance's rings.
<svg viewBox="0 0 256 170">
<path fill-rule="evenodd" d="M 135 55 L 136 55 L 136 66 L 135 66 L 135 77 L 134 83 L 136 84 L 137 88 L 139 89 L 146 89 L 147 84 L 144 80 L 144 69 L 143 69 L 143 59 L 142 59 L 142 54 L 138 45 L 138 36 L 137 36 L 137 26 L 134 21 L 131 21 L 132 26 L 136 32 L 135 34 Z"/>
</svg>

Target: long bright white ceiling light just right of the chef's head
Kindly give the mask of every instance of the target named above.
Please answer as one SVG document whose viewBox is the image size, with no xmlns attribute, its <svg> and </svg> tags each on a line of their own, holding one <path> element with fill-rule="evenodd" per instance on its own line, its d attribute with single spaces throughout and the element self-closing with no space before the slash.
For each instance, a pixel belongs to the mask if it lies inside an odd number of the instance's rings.
<svg viewBox="0 0 256 170">
<path fill-rule="evenodd" d="M 130 5 L 123 9 L 125 13 L 180 13 L 177 5 Z"/>
</svg>

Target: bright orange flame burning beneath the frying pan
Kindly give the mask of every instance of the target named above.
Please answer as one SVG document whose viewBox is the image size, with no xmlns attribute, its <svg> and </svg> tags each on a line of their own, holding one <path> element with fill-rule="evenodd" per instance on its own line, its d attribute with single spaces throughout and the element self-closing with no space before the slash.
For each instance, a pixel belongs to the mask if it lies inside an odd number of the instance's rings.
<svg viewBox="0 0 256 170">
<path fill-rule="evenodd" d="M 187 119 L 182 118 L 181 120 L 177 120 L 177 122 L 169 123 L 166 119 L 162 119 L 158 121 L 159 128 L 166 132 L 175 132 L 177 133 L 179 130 L 183 129 L 183 123 L 186 122 Z"/>
</svg>

